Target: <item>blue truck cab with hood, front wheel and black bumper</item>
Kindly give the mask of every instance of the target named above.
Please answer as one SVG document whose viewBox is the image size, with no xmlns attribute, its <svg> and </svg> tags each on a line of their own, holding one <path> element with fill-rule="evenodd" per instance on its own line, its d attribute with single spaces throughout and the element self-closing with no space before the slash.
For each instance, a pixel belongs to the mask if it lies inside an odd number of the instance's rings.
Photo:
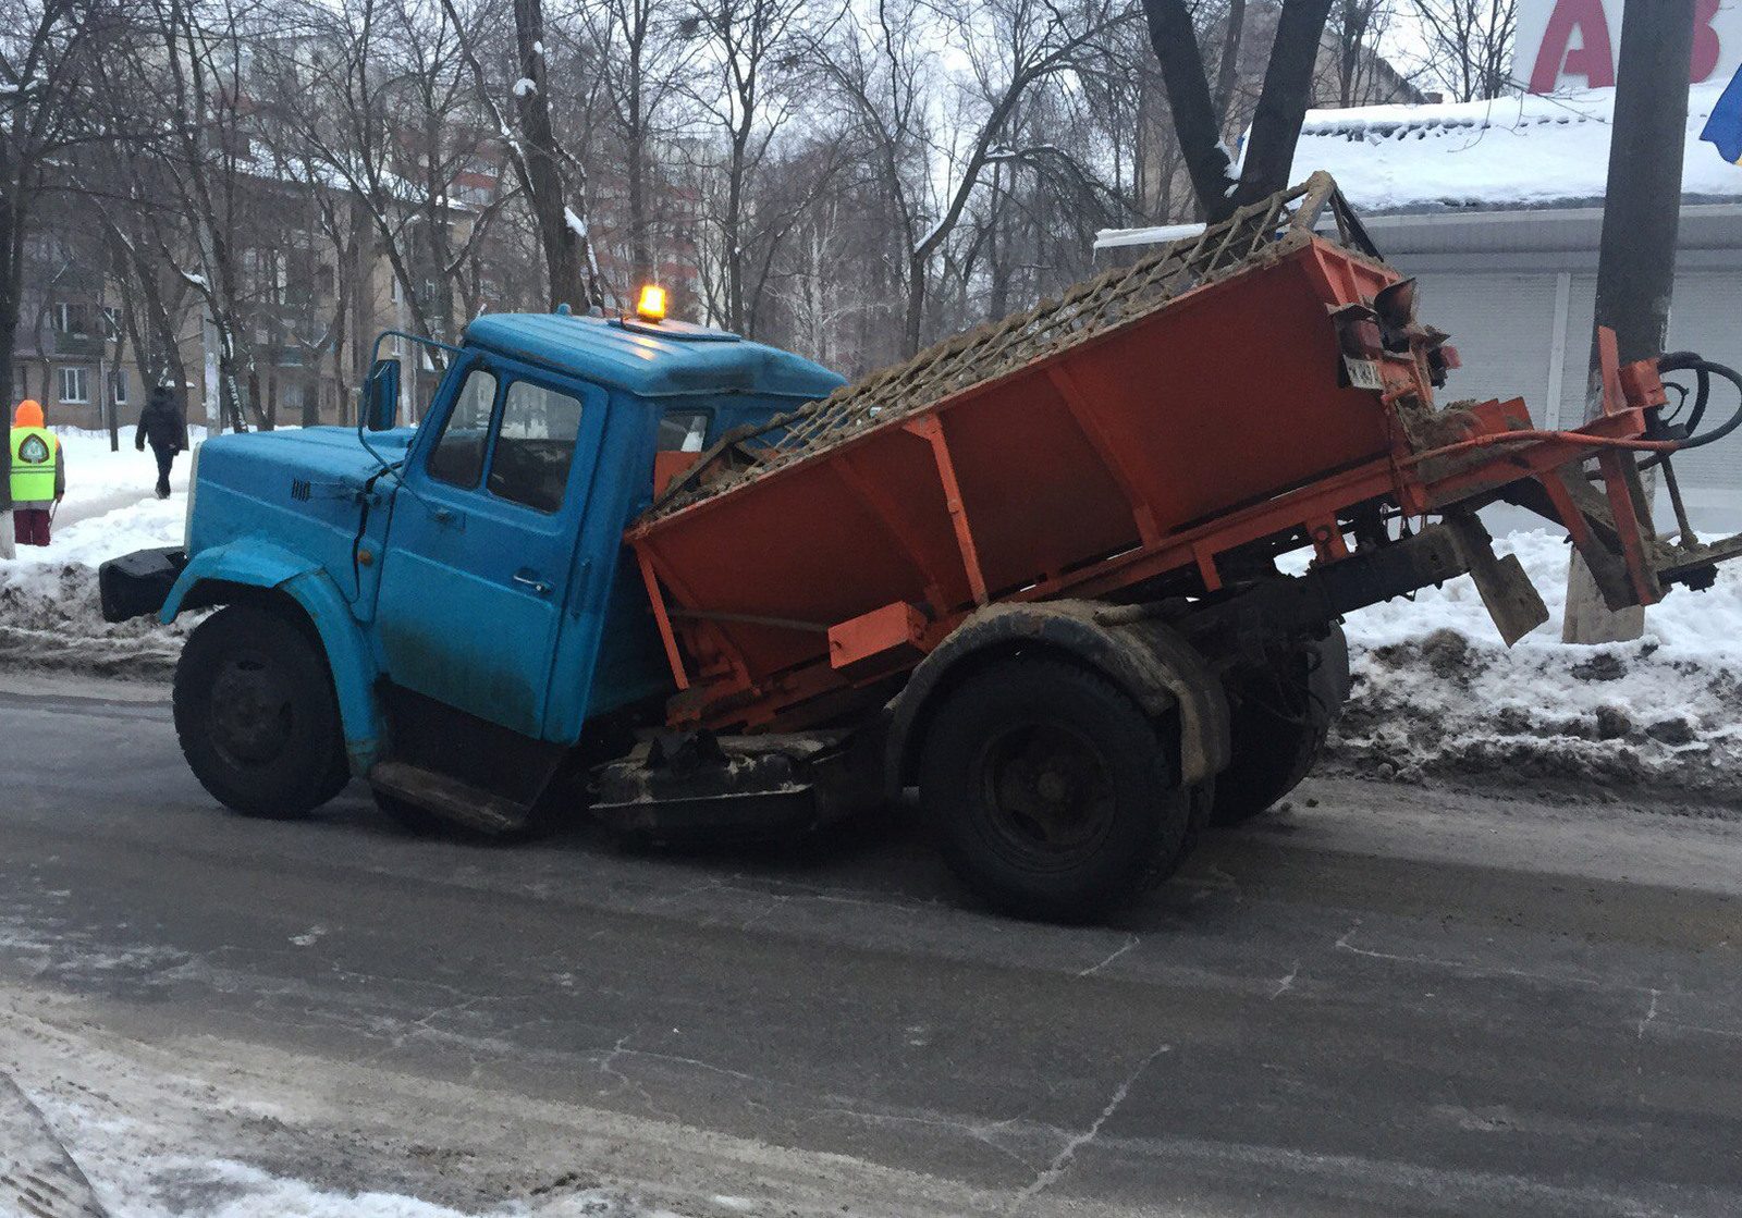
<svg viewBox="0 0 1742 1218">
<path fill-rule="evenodd" d="M 474 321 L 418 427 L 209 439 L 181 551 L 106 563 L 105 615 L 188 636 L 176 730 L 223 803 L 300 815 L 368 775 L 402 819 L 516 828 L 671 673 L 622 531 L 657 451 L 841 382 L 676 321 Z M 394 375 L 387 375 L 394 373 Z M 397 366 L 371 385 L 397 392 Z M 368 390 L 366 390 L 368 397 Z"/>
</svg>

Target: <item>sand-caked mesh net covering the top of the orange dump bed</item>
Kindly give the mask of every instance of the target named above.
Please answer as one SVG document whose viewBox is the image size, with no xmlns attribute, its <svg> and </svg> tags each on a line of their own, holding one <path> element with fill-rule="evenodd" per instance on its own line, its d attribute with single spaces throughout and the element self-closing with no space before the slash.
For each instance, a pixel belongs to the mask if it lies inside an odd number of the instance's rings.
<svg viewBox="0 0 1742 1218">
<path fill-rule="evenodd" d="M 1118 326 L 1129 326 L 1176 296 L 1296 249 L 1326 214 L 1338 240 L 1378 258 L 1361 221 L 1329 174 L 1239 209 L 1188 237 L 1108 270 L 1028 312 L 948 338 L 913 359 L 841 385 L 822 401 L 784 415 L 758 432 L 726 436 L 662 493 L 643 519 L 678 512 L 773 469 L 834 448 L 857 432 L 915 415 L 934 403 L 1007 376 Z M 773 434 L 772 441 L 756 436 Z"/>
</svg>

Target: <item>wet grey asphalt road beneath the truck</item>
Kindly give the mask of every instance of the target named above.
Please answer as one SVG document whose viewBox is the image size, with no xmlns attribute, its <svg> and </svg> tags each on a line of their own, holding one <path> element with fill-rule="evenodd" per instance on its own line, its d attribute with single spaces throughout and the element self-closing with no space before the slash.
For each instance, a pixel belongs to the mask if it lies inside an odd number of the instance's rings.
<svg viewBox="0 0 1742 1218">
<path fill-rule="evenodd" d="M 357 788 L 251 822 L 155 695 L 21 681 L 0 1065 L 185 1068 L 211 1110 L 164 1120 L 270 1171 L 469 1209 L 585 1180 L 692 1215 L 1742 1213 L 1718 815 L 1313 781 L 1059 929 L 977 911 L 902 826 L 493 849 Z"/>
</svg>

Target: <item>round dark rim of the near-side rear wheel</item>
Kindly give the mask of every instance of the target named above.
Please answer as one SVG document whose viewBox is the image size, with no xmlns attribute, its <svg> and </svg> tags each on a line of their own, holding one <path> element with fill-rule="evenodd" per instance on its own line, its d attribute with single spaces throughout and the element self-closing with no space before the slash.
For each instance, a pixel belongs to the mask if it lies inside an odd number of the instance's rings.
<svg viewBox="0 0 1742 1218">
<path fill-rule="evenodd" d="M 979 828 L 1017 866 L 1077 866 L 1113 828 L 1111 768 L 1080 732 L 1057 723 L 1007 728 L 986 742 L 977 770 Z"/>
</svg>

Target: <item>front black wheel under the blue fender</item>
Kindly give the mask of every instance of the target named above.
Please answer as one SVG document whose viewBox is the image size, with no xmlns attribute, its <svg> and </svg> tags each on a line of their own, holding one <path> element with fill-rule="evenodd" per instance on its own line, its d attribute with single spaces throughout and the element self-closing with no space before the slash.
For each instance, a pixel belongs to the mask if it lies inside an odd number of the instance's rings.
<svg viewBox="0 0 1742 1218">
<path fill-rule="evenodd" d="M 193 629 L 174 714 L 200 786 L 244 815 L 307 815 L 350 777 L 326 655 L 268 608 L 230 605 Z"/>
</svg>

